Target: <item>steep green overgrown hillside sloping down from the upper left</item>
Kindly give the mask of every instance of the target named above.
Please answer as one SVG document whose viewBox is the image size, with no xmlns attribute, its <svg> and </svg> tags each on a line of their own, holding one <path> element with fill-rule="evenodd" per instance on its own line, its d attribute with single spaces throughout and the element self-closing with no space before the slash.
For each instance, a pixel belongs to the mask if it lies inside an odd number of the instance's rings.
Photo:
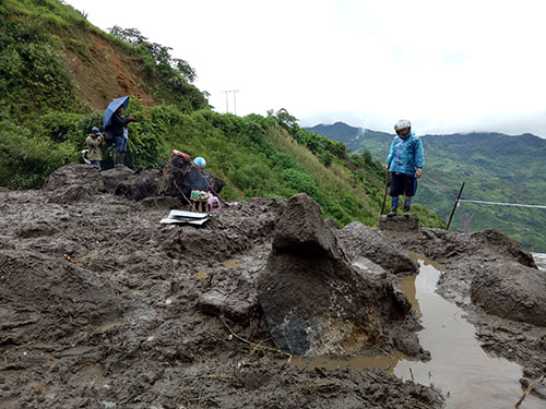
<svg viewBox="0 0 546 409">
<path fill-rule="evenodd" d="M 83 99 L 82 81 L 87 92 L 98 87 L 102 98 L 108 89 L 74 72 L 93 69 L 94 47 L 114 47 L 111 59 L 135 61 L 142 74 L 118 75 L 131 76 L 131 84 L 142 84 L 139 92 L 155 98 L 155 104 L 131 98 L 127 115 L 136 122 L 129 127 L 129 166 L 161 168 L 178 149 L 206 159 L 207 170 L 226 182 L 225 200 L 306 192 L 324 217 L 377 225 L 384 173 L 368 152 L 349 155 L 343 143 L 298 127 L 285 109 L 244 118 L 212 111 L 206 93 L 191 84 L 195 72 L 188 62 L 171 58 L 168 47 L 151 44 L 138 29 L 103 33 L 55 0 L 4 1 L 0 25 L 0 185 L 39 189 L 51 171 L 81 160 L 85 137 L 92 127 L 102 128 L 104 113 Z M 67 53 L 75 56 L 76 69 L 67 65 Z M 106 151 L 105 167 L 111 156 Z M 422 225 L 444 226 L 427 208 L 417 212 Z"/>
</svg>

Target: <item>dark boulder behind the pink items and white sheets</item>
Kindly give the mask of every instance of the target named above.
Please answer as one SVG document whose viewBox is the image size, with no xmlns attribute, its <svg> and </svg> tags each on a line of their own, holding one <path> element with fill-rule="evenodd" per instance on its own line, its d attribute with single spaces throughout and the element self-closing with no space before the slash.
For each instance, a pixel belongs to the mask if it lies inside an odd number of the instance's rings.
<svg viewBox="0 0 546 409">
<path fill-rule="evenodd" d="M 175 196 L 188 203 L 192 190 L 209 191 L 218 195 L 224 182 L 213 173 L 209 173 L 189 158 L 170 155 L 163 169 L 163 177 L 157 185 L 158 196 Z"/>
</svg>

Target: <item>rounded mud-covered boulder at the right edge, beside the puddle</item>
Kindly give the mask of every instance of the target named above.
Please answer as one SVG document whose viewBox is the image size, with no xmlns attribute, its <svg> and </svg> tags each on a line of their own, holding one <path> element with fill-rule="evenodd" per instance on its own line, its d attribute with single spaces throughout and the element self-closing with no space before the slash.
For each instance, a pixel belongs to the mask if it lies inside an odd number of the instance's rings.
<svg viewBox="0 0 546 409">
<path fill-rule="evenodd" d="M 546 274 L 506 260 L 475 266 L 472 302 L 489 314 L 546 326 Z"/>
</svg>

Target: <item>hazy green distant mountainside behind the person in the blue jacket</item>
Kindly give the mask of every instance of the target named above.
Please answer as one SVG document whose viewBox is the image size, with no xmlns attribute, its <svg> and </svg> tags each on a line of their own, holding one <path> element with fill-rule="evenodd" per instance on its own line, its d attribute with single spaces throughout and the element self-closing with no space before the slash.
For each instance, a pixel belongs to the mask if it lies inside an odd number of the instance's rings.
<svg viewBox="0 0 546 409">
<path fill-rule="evenodd" d="M 384 163 L 394 134 L 343 122 L 306 128 L 341 141 L 352 152 L 368 149 Z M 416 130 L 418 131 L 418 130 Z M 423 135 L 426 166 L 416 202 L 447 220 L 461 184 L 465 200 L 546 205 L 546 140 L 532 134 L 501 133 Z M 455 231 L 495 227 L 527 250 L 546 252 L 546 209 L 462 203 Z"/>
</svg>

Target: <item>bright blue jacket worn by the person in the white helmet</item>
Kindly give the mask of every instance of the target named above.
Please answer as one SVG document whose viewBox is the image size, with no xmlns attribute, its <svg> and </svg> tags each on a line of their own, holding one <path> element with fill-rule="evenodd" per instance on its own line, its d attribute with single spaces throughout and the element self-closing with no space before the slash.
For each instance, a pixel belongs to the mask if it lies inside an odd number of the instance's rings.
<svg viewBox="0 0 546 409">
<path fill-rule="evenodd" d="M 425 154 L 423 153 L 423 143 L 418 136 L 412 134 L 405 140 L 394 136 L 391 144 L 391 151 L 387 157 L 390 172 L 399 172 L 414 176 L 417 168 L 425 166 Z"/>
</svg>

